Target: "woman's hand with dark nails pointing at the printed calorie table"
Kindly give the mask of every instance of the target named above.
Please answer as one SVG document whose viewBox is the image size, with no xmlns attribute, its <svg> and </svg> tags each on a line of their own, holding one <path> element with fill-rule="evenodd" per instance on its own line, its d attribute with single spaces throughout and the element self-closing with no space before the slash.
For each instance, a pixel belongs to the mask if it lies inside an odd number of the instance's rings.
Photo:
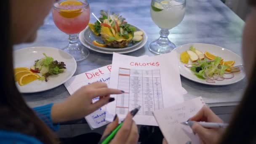
<svg viewBox="0 0 256 144">
<path fill-rule="evenodd" d="M 121 93 L 120 90 L 107 88 L 107 84 L 101 82 L 83 86 L 69 96 L 66 101 L 53 104 L 51 109 L 52 121 L 59 123 L 85 117 L 105 104 L 114 101 L 114 98 L 109 97 L 110 94 Z M 99 101 L 92 104 L 92 99 L 99 96 Z"/>
</svg>

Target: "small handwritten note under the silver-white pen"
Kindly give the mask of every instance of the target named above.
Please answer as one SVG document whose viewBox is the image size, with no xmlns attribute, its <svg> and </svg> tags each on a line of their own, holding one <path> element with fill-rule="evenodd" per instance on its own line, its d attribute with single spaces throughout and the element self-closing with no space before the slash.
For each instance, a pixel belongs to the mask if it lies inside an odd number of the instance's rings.
<svg viewBox="0 0 256 144">
<path fill-rule="evenodd" d="M 185 144 L 187 141 L 192 141 L 192 144 L 200 144 L 198 136 L 193 134 L 189 126 L 182 125 L 181 122 L 194 116 L 203 105 L 205 102 L 202 97 L 197 97 L 153 112 L 168 144 Z"/>
</svg>

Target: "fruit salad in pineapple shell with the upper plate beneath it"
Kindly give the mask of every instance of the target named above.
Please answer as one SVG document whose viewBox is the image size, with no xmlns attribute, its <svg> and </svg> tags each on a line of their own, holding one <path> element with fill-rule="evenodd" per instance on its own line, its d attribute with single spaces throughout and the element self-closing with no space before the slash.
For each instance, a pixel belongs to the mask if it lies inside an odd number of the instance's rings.
<svg viewBox="0 0 256 144">
<path fill-rule="evenodd" d="M 99 11 L 98 18 L 93 15 L 97 20 L 85 29 L 85 42 L 104 51 L 124 51 L 140 45 L 145 32 L 129 24 L 120 13 L 110 11 Z"/>
</svg>

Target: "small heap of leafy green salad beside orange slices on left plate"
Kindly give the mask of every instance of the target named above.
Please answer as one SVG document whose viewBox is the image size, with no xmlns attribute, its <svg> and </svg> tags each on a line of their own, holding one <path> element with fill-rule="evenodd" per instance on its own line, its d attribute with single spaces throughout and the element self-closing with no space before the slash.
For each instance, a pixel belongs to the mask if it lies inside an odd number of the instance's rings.
<svg viewBox="0 0 256 144">
<path fill-rule="evenodd" d="M 62 61 L 56 61 L 50 56 L 46 56 L 45 53 L 43 53 L 43 55 L 45 57 L 37 59 L 34 66 L 30 67 L 30 70 L 35 73 L 40 73 L 42 75 L 40 80 L 45 80 L 45 82 L 47 82 L 49 76 L 58 75 L 64 72 L 66 64 Z"/>
</svg>

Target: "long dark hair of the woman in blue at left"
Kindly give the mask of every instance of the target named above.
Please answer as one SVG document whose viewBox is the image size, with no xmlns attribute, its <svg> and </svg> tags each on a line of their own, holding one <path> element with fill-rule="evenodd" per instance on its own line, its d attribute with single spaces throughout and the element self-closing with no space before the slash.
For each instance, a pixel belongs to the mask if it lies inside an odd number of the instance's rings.
<svg viewBox="0 0 256 144">
<path fill-rule="evenodd" d="M 0 5 L 0 130 L 23 133 L 53 144 L 57 141 L 53 132 L 27 106 L 14 82 L 10 8 L 10 0 L 3 0 Z"/>
</svg>

